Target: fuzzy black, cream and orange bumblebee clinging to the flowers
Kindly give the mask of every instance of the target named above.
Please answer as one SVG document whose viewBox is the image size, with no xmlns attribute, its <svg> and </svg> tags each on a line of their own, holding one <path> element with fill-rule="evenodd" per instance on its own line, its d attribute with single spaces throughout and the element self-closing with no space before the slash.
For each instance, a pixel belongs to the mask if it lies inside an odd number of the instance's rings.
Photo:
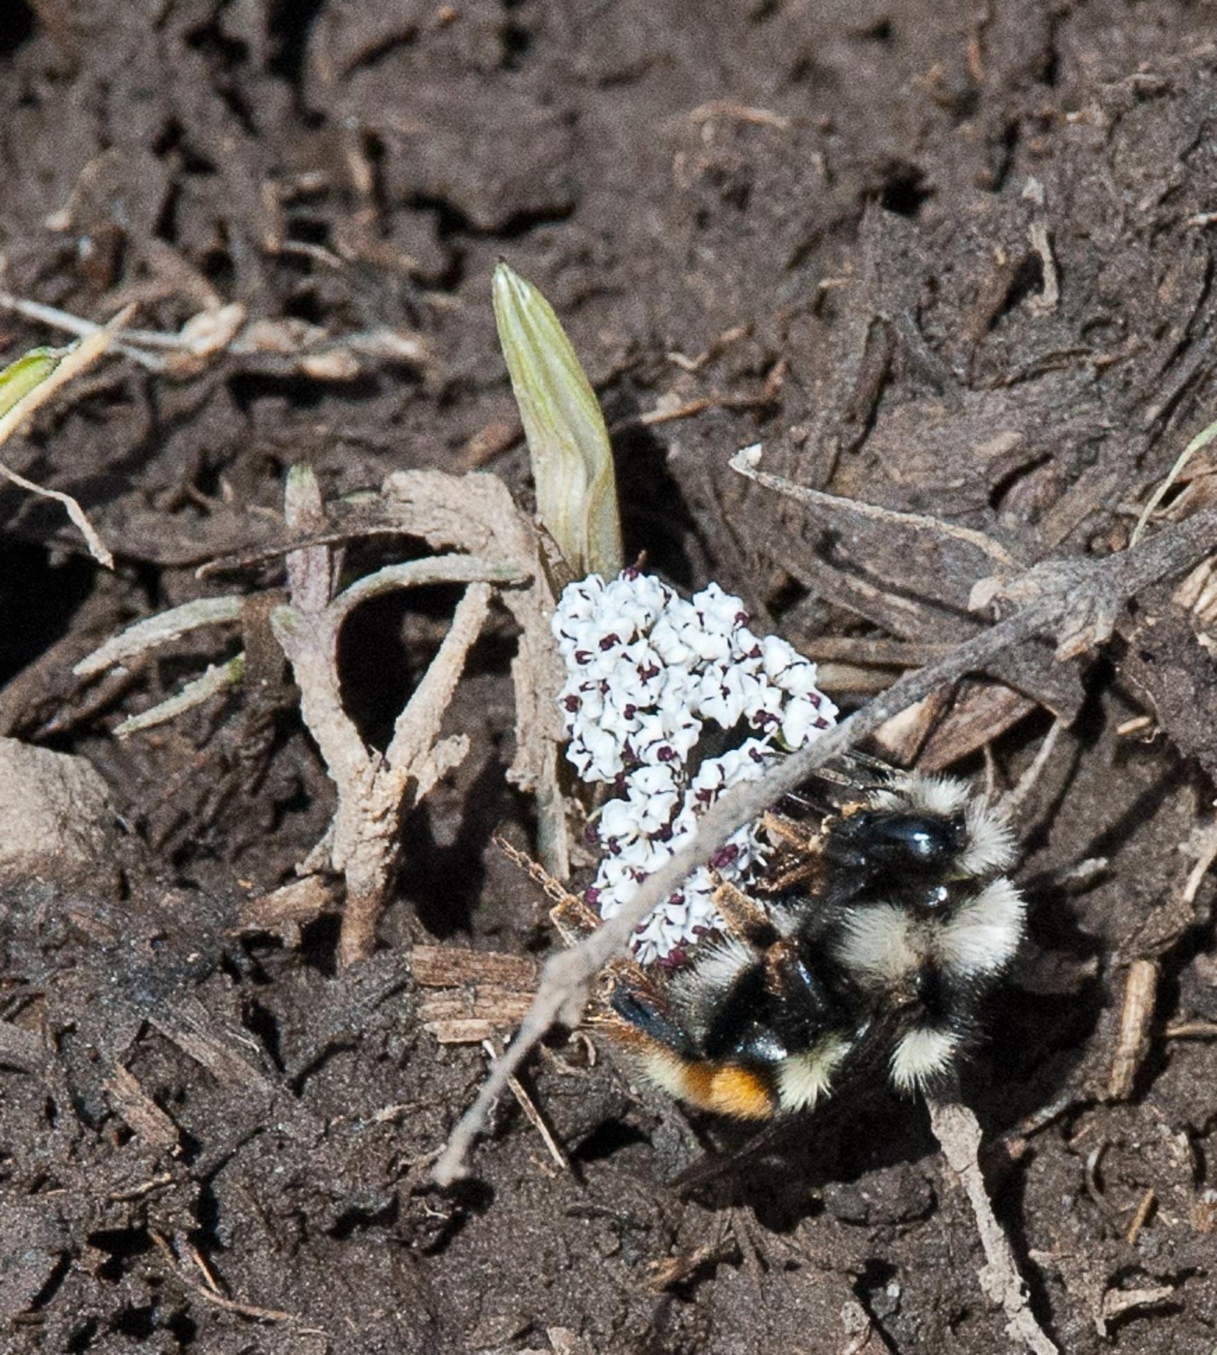
<svg viewBox="0 0 1217 1355">
<path fill-rule="evenodd" d="M 1004 814 L 965 782 L 851 756 L 819 822 L 768 814 L 775 850 L 671 973 L 618 965 L 604 1023 L 644 1076 L 740 1119 L 804 1111 L 881 1062 L 932 1089 L 980 1034 L 1023 936 Z M 852 797 L 840 801 L 842 787 Z"/>
</svg>

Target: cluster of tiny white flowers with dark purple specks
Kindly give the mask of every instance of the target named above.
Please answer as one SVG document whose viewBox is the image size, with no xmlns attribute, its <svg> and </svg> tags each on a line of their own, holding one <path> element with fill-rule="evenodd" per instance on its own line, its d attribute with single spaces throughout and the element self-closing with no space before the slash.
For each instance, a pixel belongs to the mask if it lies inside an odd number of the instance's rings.
<svg viewBox="0 0 1217 1355">
<path fill-rule="evenodd" d="M 695 831 L 698 813 L 740 780 L 754 780 L 783 751 L 800 748 L 836 720 L 816 687 L 816 665 L 775 635 L 748 629 L 739 598 L 717 584 L 686 602 L 648 575 L 626 569 L 604 583 L 571 584 L 553 618 L 566 664 L 561 702 L 568 759 L 585 782 L 622 793 L 599 813 L 604 851 L 588 902 L 611 917 L 638 885 Z M 688 762 L 706 721 L 747 726 L 739 748 Z M 710 866 L 733 882 L 763 858 L 758 827 L 735 833 Z M 713 930 L 709 869 L 655 908 L 634 934 L 642 963 L 679 963 Z"/>
</svg>

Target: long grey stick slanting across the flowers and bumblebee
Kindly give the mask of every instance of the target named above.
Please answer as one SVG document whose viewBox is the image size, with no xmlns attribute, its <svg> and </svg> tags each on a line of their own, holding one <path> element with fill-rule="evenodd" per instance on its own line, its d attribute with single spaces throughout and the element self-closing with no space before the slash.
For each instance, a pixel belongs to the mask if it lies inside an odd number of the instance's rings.
<svg viewBox="0 0 1217 1355">
<path fill-rule="evenodd" d="M 465 1173 L 466 1154 L 485 1123 L 491 1106 L 507 1085 L 507 1077 L 556 1020 L 572 1027 L 579 1023 L 587 985 L 595 974 L 625 948 L 630 934 L 646 913 L 678 889 L 684 877 L 707 860 L 736 829 L 796 790 L 831 757 L 873 734 L 892 715 L 928 696 L 938 687 L 983 668 L 997 654 L 1033 635 L 1063 623 L 1069 626 L 1071 634 L 1077 635 L 1084 625 L 1090 625 L 1091 642 L 1102 642 L 1107 638 L 1103 633 L 1106 618 L 1114 619 L 1118 607 L 1149 584 L 1189 569 L 1212 550 L 1214 538 L 1217 508 L 1206 508 L 1157 533 L 1137 550 L 1095 561 L 1063 560 L 1035 565 L 1018 580 L 1022 595 L 1029 599 L 1020 611 L 955 645 L 936 664 L 905 673 L 835 729 L 782 759 L 760 780 L 741 782 L 732 787 L 701 818 L 690 846 L 649 875 L 619 913 L 577 946 L 546 961 L 533 1008 L 503 1058 L 491 1069 L 473 1106 L 453 1130 L 435 1164 L 435 1180 L 440 1186 L 449 1186 Z"/>
</svg>

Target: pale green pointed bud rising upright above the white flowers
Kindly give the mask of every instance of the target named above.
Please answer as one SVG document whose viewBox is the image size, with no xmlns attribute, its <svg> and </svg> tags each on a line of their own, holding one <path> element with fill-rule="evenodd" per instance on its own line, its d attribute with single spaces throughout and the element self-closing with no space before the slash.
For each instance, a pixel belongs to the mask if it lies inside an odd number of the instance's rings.
<svg viewBox="0 0 1217 1355">
<path fill-rule="evenodd" d="M 614 577 L 621 522 L 608 430 L 553 306 L 506 263 L 495 268 L 495 322 L 537 484 L 537 515 L 576 577 Z"/>
</svg>

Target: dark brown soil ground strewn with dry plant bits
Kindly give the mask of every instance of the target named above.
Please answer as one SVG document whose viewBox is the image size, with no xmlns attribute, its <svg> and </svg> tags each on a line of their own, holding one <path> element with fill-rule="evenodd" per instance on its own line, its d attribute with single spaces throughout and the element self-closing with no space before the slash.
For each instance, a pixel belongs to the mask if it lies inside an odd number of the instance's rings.
<svg viewBox="0 0 1217 1355">
<path fill-rule="evenodd" d="M 382 947 L 348 970 L 329 913 L 240 927 L 333 810 L 291 701 L 118 741 L 226 638 L 108 684 L 72 665 L 136 618 L 278 587 L 274 561 L 195 569 L 274 533 L 293 463 L 331 497 L 432 466 L 527 500 L 503 257 L 602 397 L 627 554 L 741 593 L 859 703 L 976 631 L 993 560 L 809 512 L 728 457 L 762 440 L 804 485 L 1023 565 L 1128 545 L 1217 411 L 1214 20 L 1187 0 L 4 8 L 8 297 L 401 337 L 328 369 L 264 347 L 171 375 L 108 360 L 4 449 L 118 561 L 0 493 L 0 733 L 87 756 L 117 814 L 112 870 L 15 885 L 0 913 L 4 1351 L 1018 1348 L 924 1108 L 884 1092 L 749 1146 L 556 1038 L 527 1088 L 569 1167 L 507 1100 L 473 1179 L 431 1184 L 488 1056 L 424 1028 L 411 947 L 557 944 L 491 840 L 534 828 L 504 779 L 506 617 L 450 717 L 473 752 L 404 825 Z M 9 359 L 62 340 L 0 317 Z M 1212 469 L 1164 511 L 1210 503 Z M 905 729 L 922 764 L 999 787 L 1061 730 L 1022 806 L 1031 942 L 965 1092 L 1035 1313 L 1079 1355 L 1217 1348 L 1213 888 L 1187 888 L 1217 683 L 1209 604 L 1172 588 L 1102 652 L 1025 646 Z M 352 619 L 344 692 L 373 743 L 451 600 Z M 1147 961 L 1148 1043 L 1113 1095 Z M 707 1153 L 721 1169 L 676 1184 Z"/>
</svg>

